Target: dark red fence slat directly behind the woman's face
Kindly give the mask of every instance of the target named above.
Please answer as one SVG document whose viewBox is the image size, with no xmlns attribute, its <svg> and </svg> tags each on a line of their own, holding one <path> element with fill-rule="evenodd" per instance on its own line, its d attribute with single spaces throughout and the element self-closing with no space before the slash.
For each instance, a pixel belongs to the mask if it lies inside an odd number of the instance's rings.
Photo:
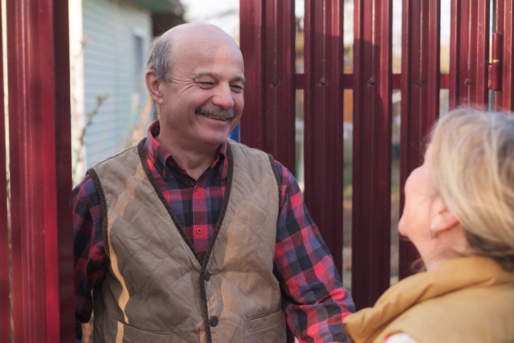
<svg viewBox="0 0 514 343">
<path fill-rule="evenodd" d="M 424 138 L 439 115 L 440 0 L 403 0 L 400 216 L 405 202 L 403 186 L 420 165 Z M 399 243 L 399 277 L 411 275 L 418 253 L 410 242 Z"/>
</svg>

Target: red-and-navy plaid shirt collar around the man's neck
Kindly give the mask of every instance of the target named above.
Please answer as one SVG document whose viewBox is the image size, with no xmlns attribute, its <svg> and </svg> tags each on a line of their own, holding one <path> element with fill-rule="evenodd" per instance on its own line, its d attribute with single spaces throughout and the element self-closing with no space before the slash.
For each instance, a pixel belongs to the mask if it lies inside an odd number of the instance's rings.
<svg viewBox="0 0 514 343">
<path fill-rule="evenodd" d="M 148 128 L 148 136 L 146 141 L 144 142 L 144 152 L 146 156 L 152 161 L 157 168 L 166 166 L 167 168 L 178 169 L 181 172 L 186 172 L 173 158 L 173 155 L 166 150 L 163 146 L 159 144 L 156 137 L 160 132 L 160 123 L 159 119 L 155 120 L 150 124 Z M 211 168 L 215 168 L 218 166 L 218 171 L 221 172 L 219 166 L 223 165 L 223 161 L 227 159 L 227 140 L 223 142 L 221 146 L 219 146 L 217 158 L 211 164 Z M 160 168 L 159 168 L 160 169 Z"/>
</svg>

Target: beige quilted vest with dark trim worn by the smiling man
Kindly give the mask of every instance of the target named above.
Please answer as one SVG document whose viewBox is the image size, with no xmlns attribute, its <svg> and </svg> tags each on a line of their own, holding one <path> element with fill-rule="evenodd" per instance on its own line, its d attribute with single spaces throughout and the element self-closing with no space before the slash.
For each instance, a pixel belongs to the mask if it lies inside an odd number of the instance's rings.
<svg viewBox="0 0 514 343">
<path fill-rule="evenodd" d="M 272 158 L 229 143 L 224 202 L 200 261 L 142 146 L 89 170 L 110 261 L 93 292 L 94 341 L 284 342 L 273 275 L 280 188 Z"/>
</svg>

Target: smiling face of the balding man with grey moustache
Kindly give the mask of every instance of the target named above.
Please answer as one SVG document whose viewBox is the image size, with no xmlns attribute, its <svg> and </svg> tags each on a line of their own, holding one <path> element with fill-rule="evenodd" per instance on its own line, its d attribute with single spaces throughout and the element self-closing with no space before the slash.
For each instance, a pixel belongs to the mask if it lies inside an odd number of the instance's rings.
<svg viewBox="0 0 514 343">
<path fill-rule="evenodd" d="M 227 39 L 191 41 L 172 47 L 171 80 L 161 82 L 161 137 L 196 148 L 215 149 L 241 118 L 244 66 L 241 51 Z"/>
</svg>

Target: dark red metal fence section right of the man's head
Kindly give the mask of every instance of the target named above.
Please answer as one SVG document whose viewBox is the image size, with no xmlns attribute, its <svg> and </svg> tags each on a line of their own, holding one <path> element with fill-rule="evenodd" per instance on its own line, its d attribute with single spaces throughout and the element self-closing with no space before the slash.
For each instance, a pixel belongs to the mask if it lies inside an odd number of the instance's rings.
<svg viewBox="0 0 514 343">
<path fill-rule="evenodd" d="M 293 91 L 303 89 L 305 202 L 342 266 L 343 89 L 353 89 L 352 294 L 360 309 L 390 284 L 392 91 L 401 89 L 401 194 L 439 115 L 440 89 L 449 89 L 450 109 L 487 108 L 489 88 L 498 84 L 492 107 L 514 110 L 512 2 L 492 2 L 496 52 L 489 63 L 491 1 L 451 0 L 449 74 L 439 66 L 440 0 L 402 1 L 401 74 L 392 71 L 392 0 L 354 0 L 353 74 L 343 74 L 344 1 L 305 0 L 304 74 L 291 60 L 295 2 L 285 3 L 240 2 L 248 79 L 241 139 L 293 168 Z M 400 211 L 402 204 L 403 196 Z M 402 278 L 417 254 L 407 242 L 399 250 Z"/>
</svg>

